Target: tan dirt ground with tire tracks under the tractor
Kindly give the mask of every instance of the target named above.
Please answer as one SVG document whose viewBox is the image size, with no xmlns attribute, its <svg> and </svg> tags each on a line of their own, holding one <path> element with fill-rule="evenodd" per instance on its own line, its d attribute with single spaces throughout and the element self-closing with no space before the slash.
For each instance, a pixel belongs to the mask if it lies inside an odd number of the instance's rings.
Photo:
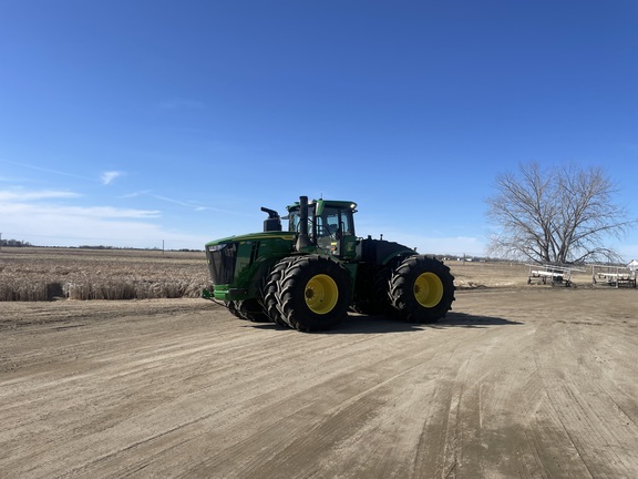
<svg viewBox="0 0 638 479">
<path fill-rule="evenodd" d="M 323 334 L 202 299 L 0 303 L 0 476 L 638 477 L 638 292 L 456 297 Z"/>
</svg>

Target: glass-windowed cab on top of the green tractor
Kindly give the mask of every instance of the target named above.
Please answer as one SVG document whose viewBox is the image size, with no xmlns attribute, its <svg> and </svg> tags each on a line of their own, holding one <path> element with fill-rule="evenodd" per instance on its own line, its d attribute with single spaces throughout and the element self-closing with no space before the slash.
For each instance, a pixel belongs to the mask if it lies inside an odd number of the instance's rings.
<svg viewBox="0 0 638 479">
<path fill-rule="evenodd" d="M 356 256 L 357 236 L 353 214 L 357 204 L 346 201 L 312 200 L 306 205 L 295 203 L 288 210 L 288 231 L 303 235 L 307 231 L 308 246 L 341 259 Z"/>
</svg>

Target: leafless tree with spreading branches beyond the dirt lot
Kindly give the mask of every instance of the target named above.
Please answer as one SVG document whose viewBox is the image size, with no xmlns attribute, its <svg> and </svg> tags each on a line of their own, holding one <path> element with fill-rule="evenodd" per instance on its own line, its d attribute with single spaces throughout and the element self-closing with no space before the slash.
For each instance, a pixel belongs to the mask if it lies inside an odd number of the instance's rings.
<svg viewBox="0 0 638 479">
<path fill-rule="evenodd" d="M 637 220 L 614 202 L 618 193 L 600 167 L 574 163 L 542 170 L 521 164 L 517 173 L 496 179 L 487 215 L 498 226 L 490 238 L 492 254 L 553 264 L 618 261 L 605 246 L 621 238 Z"/>
</svg>

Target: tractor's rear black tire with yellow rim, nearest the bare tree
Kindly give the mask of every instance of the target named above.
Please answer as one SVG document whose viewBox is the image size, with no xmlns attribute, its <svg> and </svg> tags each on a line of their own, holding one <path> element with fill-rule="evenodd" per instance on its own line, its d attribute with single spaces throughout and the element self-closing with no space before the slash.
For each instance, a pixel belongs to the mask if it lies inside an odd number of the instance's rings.
<svg viewBox="0 0 638 479">
<path fill-rule="evenodd" d="M 410 256 L 390 278 L 391 312 L 410 323 L 435 323 L 452 309 L 454 291 L 447 266 L 428 256 Z"/>
</svg>

